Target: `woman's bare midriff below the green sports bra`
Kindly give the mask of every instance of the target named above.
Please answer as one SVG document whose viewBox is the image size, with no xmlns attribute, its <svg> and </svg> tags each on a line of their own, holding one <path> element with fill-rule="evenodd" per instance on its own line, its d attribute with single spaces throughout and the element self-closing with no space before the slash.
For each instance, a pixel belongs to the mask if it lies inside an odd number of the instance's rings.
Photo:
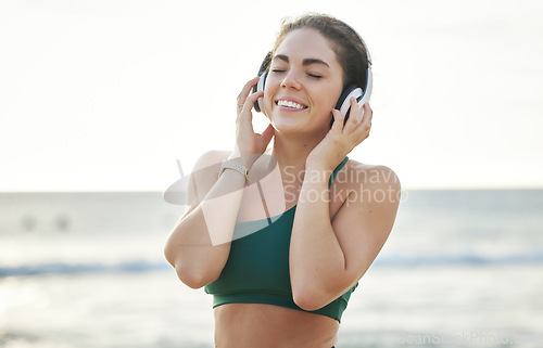
<svg viewBox="0 0 543 348">
<path fill-rule="evenodd" d="M 274 305 L 227 304 L 214 317 L 218 348 L 330 348 L 339 330 L 333 318 Z"/>
</svg>

